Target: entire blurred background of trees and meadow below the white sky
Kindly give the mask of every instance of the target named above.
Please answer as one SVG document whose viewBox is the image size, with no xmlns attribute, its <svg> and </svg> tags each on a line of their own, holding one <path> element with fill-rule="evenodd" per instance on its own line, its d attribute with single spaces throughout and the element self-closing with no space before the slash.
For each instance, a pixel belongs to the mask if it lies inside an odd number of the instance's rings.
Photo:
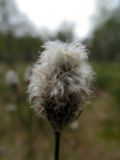
<svg viewBox="0 0 120 160">
<path fill-rule="evenodd" d="M 30 109 L 26 90 L 43 43 L 75 40 L 73 25 L 47 37 L 37 35 L 27 20 L 9 23 L 19 13 L 12 3 L 0 0 L 0 160 L 53 160 L 53 131 Z M 120 2 L 97 4 L 93 30 L 79 39 L 96 72 L 94 95 L 81 117 L 63 131 L 61 160 L 120 160 Z M 11 70 L 15 86 L 7 82 Z"/>
</svg>

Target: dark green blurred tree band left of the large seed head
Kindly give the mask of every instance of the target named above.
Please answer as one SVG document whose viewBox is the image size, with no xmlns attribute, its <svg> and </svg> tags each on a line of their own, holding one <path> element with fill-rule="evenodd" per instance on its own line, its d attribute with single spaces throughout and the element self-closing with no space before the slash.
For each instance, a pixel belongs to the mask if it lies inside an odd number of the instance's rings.
<svg viewBox="0 0 120 160">
<path fill-rule="evenodd" d="M 15 37 L 12 34 L 0 34 L 0 61 L 30 62 L 38 56 L 43 41 L 38 37 Z"/>
</svg>

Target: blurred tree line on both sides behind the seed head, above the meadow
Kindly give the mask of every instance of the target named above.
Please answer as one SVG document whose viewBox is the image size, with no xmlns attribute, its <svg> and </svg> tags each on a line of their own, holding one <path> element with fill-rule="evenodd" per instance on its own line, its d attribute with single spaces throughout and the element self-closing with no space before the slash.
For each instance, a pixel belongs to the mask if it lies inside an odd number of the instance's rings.
<svg viewBox="0 0 120 160">
<path fill-rule="evenodd" d="M 6 0 L 1 0 L 1 3 L 2 1 L 6 2 Z M 96 25 L 92 35 L 83 40 L 90 50 L 92 60 L 101 62 L 120 61 L 120 5 L 118 4 L 117 7 L 111 7 L 111 10 L 105 8 L 106 5 L 102 6 L 102 9 L 100 8 L 101 14 L 99 13 L 95 18 Z M 39 36 L 33 35 L 33 31 L 28 27 L 30 26 L 29 23 L 26 25 L 17 21 L 18 24 L 11 25 L 10 19 L 16 17 L 16 12 L 9 13 L 7 10 L 5 12 L 5 4 L 2 4 L 2 8 L 4 9 L 0 12 L 2 15 L 4 11 L 4 14 L 0 23 L 3 24 L 0 25 L 0 61 L 33 61 L 38 56 L 38 50 L 42 51 L 41 46 L 46 41 L 44 36 L 42 34 Z M 19 32 L 18 28 L 21 30 L 20 35 L 16 34 L 16 32 Z M 27 31 L 25 32 L 25 30 Z M 48 34 L 47 36 L 47 40 L 59 39 L 71 42 L 75 39 L 74 25 L 64 22 L 55 34 Z"/>
</svg>

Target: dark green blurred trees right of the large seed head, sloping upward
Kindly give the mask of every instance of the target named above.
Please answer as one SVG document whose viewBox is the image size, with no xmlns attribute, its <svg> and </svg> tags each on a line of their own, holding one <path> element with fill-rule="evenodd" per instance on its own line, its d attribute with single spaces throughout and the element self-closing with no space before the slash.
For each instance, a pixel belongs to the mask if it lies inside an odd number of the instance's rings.
<svg viewBox="0 0 120 160">
<path fill-rule="evenodd" d="M 100 20 L 104 17 L 98 17 Z M 98 22 L 99 24 L 99 22 Z M 120 7 L 115 8 L 88 40 L 91 57 L 97 61 L 120 61 Z"/>
</svg>

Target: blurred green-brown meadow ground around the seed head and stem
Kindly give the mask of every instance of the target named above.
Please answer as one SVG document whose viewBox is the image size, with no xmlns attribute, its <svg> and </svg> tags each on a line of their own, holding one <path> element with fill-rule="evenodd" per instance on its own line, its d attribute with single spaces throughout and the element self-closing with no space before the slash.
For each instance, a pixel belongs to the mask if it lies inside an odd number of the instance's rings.
<svg viewBox="0 0 120 160">
<path fill-rule="evenodd" d="M 23 73 L 28 64 L 14 65 L 21 82 L 17 93 L 4 80 L 9 65 L 4 65 L 0 81 L 0 159 L 14 156 L 17 160 L 52 160 L 52 129 L 46 120 L 35 115 L 27 102 Z M 101 152 L 102 160 L 120 158 L 120 64 L 94 62 L 92 65 L 97 78 L 95 97 L 77 121 L 77 128 L 69 126 L 64 130 L 62 160 L 80 157 L 101 160 Z"/>
</svg>

